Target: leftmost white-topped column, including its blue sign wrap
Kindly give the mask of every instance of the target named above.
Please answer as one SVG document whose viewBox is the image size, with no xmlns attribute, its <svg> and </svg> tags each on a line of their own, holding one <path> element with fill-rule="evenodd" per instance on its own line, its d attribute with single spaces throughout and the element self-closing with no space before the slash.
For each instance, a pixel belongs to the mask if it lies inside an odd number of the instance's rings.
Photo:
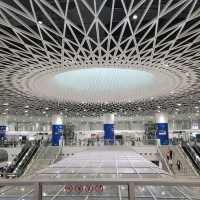
<svg viewBox="0 0 200 200">
<path fill-rule="evenodd" d="M 52 146 L 60 146 L 63 140 L 63 118 L 60 115 L 54 115 L 52 117 L 52 137 L 51 144 Z"/>
</svg>

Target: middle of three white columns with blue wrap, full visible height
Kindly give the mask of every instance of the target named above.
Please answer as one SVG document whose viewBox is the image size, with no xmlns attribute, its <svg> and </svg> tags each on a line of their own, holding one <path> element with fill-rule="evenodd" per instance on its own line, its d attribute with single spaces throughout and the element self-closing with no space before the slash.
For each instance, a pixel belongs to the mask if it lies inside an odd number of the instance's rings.
<svg viewBox="0 0 200 200">
<path fill-rule="evenodd" d="M 114 113 L 104 114 L 104 141 L 106 144 L 114 144 Z"/>
</svg>

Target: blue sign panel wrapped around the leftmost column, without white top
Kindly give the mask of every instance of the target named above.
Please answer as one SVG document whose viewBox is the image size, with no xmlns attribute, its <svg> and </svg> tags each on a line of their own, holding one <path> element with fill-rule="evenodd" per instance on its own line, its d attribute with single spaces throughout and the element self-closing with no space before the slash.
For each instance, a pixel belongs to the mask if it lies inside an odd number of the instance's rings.
<svg viewBox="0 0 200 200">
<path fill-rule="evenodd" d="M 59 146 L 60 137 L 64 132 L 64 125 L 52 125 L 52 146 Z"/>
</svg>

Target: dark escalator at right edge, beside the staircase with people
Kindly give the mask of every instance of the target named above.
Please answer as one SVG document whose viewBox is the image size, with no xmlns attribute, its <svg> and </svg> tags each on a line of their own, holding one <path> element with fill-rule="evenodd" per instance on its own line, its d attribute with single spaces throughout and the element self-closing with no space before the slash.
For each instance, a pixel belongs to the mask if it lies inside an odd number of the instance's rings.
<svg viewBox="0 0 200 200">
<path fill-rule="evenodd" d="M 182 148 L 192 161 L 193 166 L 200 174 L 200 157 L 189 143 L 183 143 Z"/>
</svg>

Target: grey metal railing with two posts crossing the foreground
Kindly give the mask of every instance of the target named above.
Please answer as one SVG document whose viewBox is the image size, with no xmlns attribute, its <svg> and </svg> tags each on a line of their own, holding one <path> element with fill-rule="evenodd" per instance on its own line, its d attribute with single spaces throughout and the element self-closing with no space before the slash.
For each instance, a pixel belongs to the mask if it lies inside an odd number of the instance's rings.
<svg viewBox="0 0 200 200">
<path fill-rule="evenodd" d="M 128 200 L 135 200 L 136 199 L 136 186 L 188 186 L 188 187 L 200 187 L 200 180 L 199 179 L 117 179 L 117 180 L 1 180 L 0 186 L 33 186 L 33 200 L 42 200 L 43 198 L 43 186 L 55 186 L 55 185 L 63 185 L 66 184 L 70 185 L 88 185 L 88 184 L 101 184 L 105 185 L 127 185 L 128 186 Z M 13 194 L 13 193 L 12 193 Z M 13 194 L 14 195 L 14 194 Z"/>
</svg>

